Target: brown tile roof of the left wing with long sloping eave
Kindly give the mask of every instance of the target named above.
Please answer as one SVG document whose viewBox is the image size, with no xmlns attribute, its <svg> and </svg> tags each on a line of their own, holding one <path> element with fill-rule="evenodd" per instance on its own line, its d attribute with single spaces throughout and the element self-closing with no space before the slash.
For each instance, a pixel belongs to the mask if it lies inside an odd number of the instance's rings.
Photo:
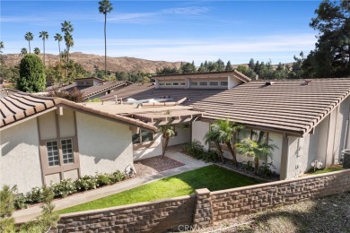
<svg viewBox="0 0 350 233">
<path fill-rule="evenodd" d="M 29 119 L 30 116 L 37 116 L 40 113 L 47 110 L 54 110 L 59 106 L 74 108 L 74 110 L 82 111 L 84 113 L 92 113 L 95 116 L 104 116 L 114 119 L 118 122 L 135 125 L 152 131 L 156 131 L 157 128 L 153 125 L 146 124 L 142 121 L 132 119 L 127 116 L 119 116 L 116 114 L 110 114 L 101 110 L 88 108 L 80 104 L 76 104 L 72 101 L 60 98 L 49 98 L 34 96 L 27 93 L 17 93 L 11 96 L 0 99 L 0 128 L 10 126 L 13 123 L 24 121 Z"/>
</svg>

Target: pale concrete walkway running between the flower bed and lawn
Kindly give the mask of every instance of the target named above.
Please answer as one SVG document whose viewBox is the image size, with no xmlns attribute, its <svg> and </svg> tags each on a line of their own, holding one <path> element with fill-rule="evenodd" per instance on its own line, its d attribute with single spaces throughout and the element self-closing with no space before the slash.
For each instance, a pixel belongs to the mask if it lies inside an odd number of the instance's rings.
<svg viewBox="0 0 350 233">
<path fill-rule="evenodd" d="M 73 205 L 91 202 L 93 200 L 99 199 L 104 196 L 108 196 L 111 194 L 118 194 L 119 192 L 134 188 L 136 186 L 142 186 L 144 184 L 153 182 L 163 177 L 171 177 L 188 170 L 206 167 L 211 164 L 211 163 L 205 163 L 203 161 L 192 159 L 191 157 L 179 152 L 179 148 L 176 146 L 170 147 L 166 155 L 173 160 L 178 160 L 179 162 L 184 163 L 185 165 L 178 168 L 165 170 L 153 175 L 128 179 L 122 182 L 118 182 L 113 186 L 105 186 L 99 189 L 94 189 L 91 191 L 84 192 L 83 194 L 74 194 L 64 199 L 55 200 L 54 201 L 54 204 L 56 205 L 55 210 L 58 211 Z M 13 213 L 13 218 L 16 222 L 34 220 L 35 217 L 39 216 L 42 210 L 40 206 L 41 205 L 36 205 L 28 209 L 15 211 Z"/>
</svg>

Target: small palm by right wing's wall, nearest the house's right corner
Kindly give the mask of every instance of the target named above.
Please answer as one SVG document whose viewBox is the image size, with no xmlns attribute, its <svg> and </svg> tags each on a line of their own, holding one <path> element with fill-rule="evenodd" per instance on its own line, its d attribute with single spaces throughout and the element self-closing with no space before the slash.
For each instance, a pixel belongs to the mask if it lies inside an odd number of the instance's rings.
<svg viewBox="0 0 350 233">
<path fill-rule="evenodd" d="M 260 132 L 258 140 L 245 138 L 240 143 L 236 143 L 237 151 L 243 156 L 249 156 L 254 159 L 254 172 L 258 173 L 258 161 L 260 158 L 272 156 L 272 151 L 277 149 L 275 144 L 262 142 L 264 133 Z M 271 141 L 271 140 L 270 140 Z"/>
</svg>

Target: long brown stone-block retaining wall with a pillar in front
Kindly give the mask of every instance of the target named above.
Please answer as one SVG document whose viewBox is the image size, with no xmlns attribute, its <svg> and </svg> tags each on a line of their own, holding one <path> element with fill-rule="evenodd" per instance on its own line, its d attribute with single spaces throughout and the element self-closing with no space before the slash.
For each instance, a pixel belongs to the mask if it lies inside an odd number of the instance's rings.
<svg viewBox="0 0 350 233">
<path fill-rule="evenodd" d="M 162 201 L 64 214 L 51 232 L 164 232 L 198 229 L 214 221 L 264 211 L 313 197 L 350 191 L 350 169 Z M 180 228 L 179 228 L 180 226 Z"/>
</svg>

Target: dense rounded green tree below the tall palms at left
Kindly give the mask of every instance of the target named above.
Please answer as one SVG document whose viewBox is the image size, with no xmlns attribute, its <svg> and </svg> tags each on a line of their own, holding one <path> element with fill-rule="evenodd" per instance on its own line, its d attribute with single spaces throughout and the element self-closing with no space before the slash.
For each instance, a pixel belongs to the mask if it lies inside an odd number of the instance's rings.
<svg viewBox="0 0 350 233">
<path fill-rule="evenodd" d="M 20 78 L 17 88 L 25 92 L 44 91 L 46 85 L 45 69 L 37 55 L 27 54 L 20 63 Z"/>
</svg>

